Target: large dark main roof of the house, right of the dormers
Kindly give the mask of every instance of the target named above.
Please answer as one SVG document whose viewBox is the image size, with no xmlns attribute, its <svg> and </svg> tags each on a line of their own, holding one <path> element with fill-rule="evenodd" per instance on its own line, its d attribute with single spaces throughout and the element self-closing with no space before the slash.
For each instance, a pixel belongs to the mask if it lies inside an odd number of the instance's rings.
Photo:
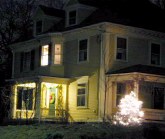
<svg viewBox="0 0 165 139">
<path fill-rule="evenodd" d="M 154 5 L 149 0 L 76 1 L 81 4 L 97 7 L 97 10 L 77 27 L 99 22 L 112 22 L 165 32 L 165 10 Z"/>
</svg>

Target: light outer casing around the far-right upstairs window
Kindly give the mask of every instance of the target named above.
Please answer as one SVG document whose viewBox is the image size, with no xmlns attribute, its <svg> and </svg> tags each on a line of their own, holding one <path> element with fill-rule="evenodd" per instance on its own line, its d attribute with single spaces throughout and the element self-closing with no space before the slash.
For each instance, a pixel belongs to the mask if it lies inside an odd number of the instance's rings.
<svg viewBox="0 0 165 139">
<path fill-rule="evenodd" d="M 158 44 L 160 46 L 160 64 L 159 65 L 156 65 L 156 64 L 151 64 L 151 44 Z M 149 42 L 149 65 L 152 65 L 152 66 L 157 66 L 157 67 L 160 67 L 162 65 L 161 61 L 161 57 L 162 57 L 162 54 L 161 54 L 161 51 L 162 51 L 162 44 L 160 42 L 156 42 L 156 41 L 150 41 Z"/>
</svg>

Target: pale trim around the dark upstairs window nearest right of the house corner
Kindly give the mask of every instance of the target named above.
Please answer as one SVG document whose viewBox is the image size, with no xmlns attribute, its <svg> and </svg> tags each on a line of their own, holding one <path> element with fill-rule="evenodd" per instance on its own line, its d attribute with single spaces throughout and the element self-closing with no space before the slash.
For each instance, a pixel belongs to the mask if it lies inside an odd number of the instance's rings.
<svg viewBox="0 0 165 139">
<path fill-rule="evenodd" d="M 124 59 L 117 59 L 117 38 L 124 38 L 126 39 L 126 60 Z M 115 60 L 116 61 L 121 61 L 121 62 L 128 62 L 128 37 L 126 36 L 121 36 L 121 35 L 116 35 L 115 36 Z"/>
</svg>

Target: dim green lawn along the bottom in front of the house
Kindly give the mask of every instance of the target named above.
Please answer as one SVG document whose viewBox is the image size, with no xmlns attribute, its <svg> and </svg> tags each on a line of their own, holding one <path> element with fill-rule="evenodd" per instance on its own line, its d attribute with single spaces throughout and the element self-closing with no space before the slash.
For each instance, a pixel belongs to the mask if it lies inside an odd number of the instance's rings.
<svg viewBox="0 0 165 139">
<path fill-rule="evenodd" d="M 0 139 L 164 139 L 164 127 L 123 127 L 110 123 L 7 125 L 0 126 Z"/>
</svg>

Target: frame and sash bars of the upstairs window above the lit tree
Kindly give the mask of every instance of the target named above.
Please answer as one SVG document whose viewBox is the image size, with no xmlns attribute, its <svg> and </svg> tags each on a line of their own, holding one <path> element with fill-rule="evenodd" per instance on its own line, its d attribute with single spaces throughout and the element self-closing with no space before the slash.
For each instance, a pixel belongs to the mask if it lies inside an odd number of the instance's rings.
<svg viewBox="0 0 165 139">
<path fill-rule="evenodd" d="M 119 58 L 117 58 L 117 54 L 118 54 L 118 49 L 121 49 L 122 50 L 122 48 L 118 48 L 118 38 L 121 38 L 121 39 L 125 39 L 126 40 L 126 48 L 125 48 L 125 59 L 119 59 Z M 116 53 L 115 53 L 115 59 L 117 60 L 117 61 L 125 61 L 125 62 L 127 62 L 128 61 L 128 37 L 124 37 L 124 36 L 116 36 L 116 39 L 115 39 L 115 49 L 116 49 Z M 124 51 L 124 50 L 123 50 Z M 123 52 L 124 53 L 124 52 Z"/>
</svg>

